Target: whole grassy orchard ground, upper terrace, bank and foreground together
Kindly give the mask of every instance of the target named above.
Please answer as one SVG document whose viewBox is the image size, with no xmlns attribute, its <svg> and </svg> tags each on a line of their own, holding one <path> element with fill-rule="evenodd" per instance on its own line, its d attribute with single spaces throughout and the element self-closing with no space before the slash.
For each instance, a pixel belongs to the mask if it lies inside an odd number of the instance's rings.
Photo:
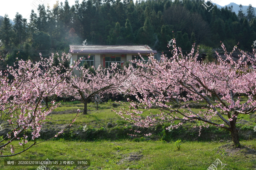
<svg viewBox="0 0 256 170">
<path fill-rule="evenodd" d="M 47 116 L 47 123 L 42 128 L 42 138 L 47 139 L 49 135 L 46 134 L 67 126 L 76 115 L 77 109 L 83 110 L 83 104 L 62 104 Z M 113 108 L 110 103 L 99 105 L 98 110 L 95 107 L 94 103 L 88 104 L 89 114 L 80 113 L 74 124 L 60 137 L 40 143 L 17 156 L 1 158 L 0 169 L 35 170 L 38 166 L 4 166 L 4 160 L 48 158 L 91 160 L 91 165 L 87 167 L 47 166 L 53 170 L 126 170 L 128 167 L 130 170 L 206 170 L 218 158 L 223 166 L 218 166 L 217 169 L 256 170 L 255 137 L 249 137 L 246 141 L 241 137 L 243 148 L 232 148 L 232 143 L 226 143 L 230 138 L 228 132 L 210 127 L 203 129 L 201 137 L 198 137 L 198 129 L 193 129 L 196 122 L 191 122 L 172 132 L 161 126 L 150 129 L 154 133 L 149 139 L 145 136 L 131 139 L 126 133 L 133 133 L 130 129 L 136 128 L 112 111 L 118 108 Z M 128 103 L 120 107 L 128 108 Z M 193 110 L 198 112 L 200 109 Z M 153 114 L 157 113 L 153 111 Z M 243 115 L 239 117 L 239 121 L 245 122 L 238 124 L 240 133 L 253 134 L 255 120 L 249 118 L 249 115 Z M 113 124 L 113 127 L 107 127 L 108 122 Z M 84 125 L 88 128 L 86 132 L 81 129 Z M 210 138 L 212 134 L 222 135 Z M 174 145 L 177 139 L 181 139 L 180 149 Z M 224 143 L 218 142 L 220 139 L 223 139 Z M 17 144 L 17 141 L 15 143 Z M 15 152 L 18 152 L 22 148 L 15 149 Z M 4 150 L 10 154 L 10 146 Z"/>
</svg>

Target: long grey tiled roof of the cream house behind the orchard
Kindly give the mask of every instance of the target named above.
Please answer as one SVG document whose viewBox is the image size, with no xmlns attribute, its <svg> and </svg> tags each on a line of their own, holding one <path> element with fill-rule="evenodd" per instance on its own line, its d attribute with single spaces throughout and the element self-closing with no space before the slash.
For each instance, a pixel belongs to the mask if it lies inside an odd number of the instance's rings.
<svg viewBox="0 0 256 170">
<path fill-rule="evenodd" d="M 73 53 L 122 53 L 122 54 L 150 54 L 157 52 L 148 45 L 69 45 L 69 52 Z"/>
</svg>

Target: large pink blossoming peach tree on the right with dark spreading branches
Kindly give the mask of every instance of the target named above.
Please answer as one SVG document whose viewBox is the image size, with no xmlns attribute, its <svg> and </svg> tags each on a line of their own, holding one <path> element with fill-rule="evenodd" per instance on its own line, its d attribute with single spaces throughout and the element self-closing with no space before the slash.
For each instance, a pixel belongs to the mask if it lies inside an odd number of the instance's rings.
<svg viewBox="0 0 256 170">
<path fill-rule="evenodd" d="M 216 126 L 229 131 L 234 144 L 240 146 L 237 118 L 252 114 L 256 109 L 255 49 L 253 57 L 240 50 L 240 58 L 235 62 L 232 53 L 228 54 L 222 44 L 226 59 L 218 57 L 219 64 L 215 64 L 197 61 L 199 53 L 194 51 L 194 46 L 187 55 L 178 53 L 175 44 L 173 47 L 170 59 L 162 55 L 160 61 L 150 56 L 151 63 L 133 61 L 143 68 L 137 70 L 139 77 L 129 92 L 139 102 L 131 101 L 130 110 L 121 109 L 117 114 L 140 127 L 171 123 L 169 128 L 178 128 L 183 122 L 200 121 L 202 124 L 196 125 L 199 135 L 202 127 Z M 248 62 L 253 68 L 248 68 Z M 242 101 L 241 95 L 247 95 L 247 101 Z M 200 101 L 206 102 L 208 107 L 199 112 L 189 107 L 190 103 Z M 144 111 L 150 109 L 158 109 L 159 114 L 151 112 L 143 116 Z"/>
</svg>

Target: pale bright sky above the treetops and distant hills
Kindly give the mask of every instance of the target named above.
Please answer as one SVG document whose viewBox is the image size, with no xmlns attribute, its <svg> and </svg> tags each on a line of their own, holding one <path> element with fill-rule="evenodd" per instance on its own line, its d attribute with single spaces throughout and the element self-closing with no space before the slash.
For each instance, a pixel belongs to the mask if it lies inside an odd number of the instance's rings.
<svg viewBox="0 0 256 170">
<path fill-rule="evenodd" d="M 59 0 L 60 2 L 63 2 L 64 4 L 65 0 Z M 133 0 L 136 1 L 136 0 Z M 207 0 L 206 0 L 207 1 Z M 75 0 L 68 0 L 69 6 L 75 5 Z M 81 3 L 82 0 L 79 0 L 79 3 Z M 242 4 L 245 6 L 248 6 L 251 4 L 253 7 L 256 7 L 256 1 L 255 0 L 212 0 L 212 2 L 220 5 L 225 6 L 230 4 L 231 2 L 234 2 L 236 4 Z M 34 11 L 37 12 L 37 6 L 38 4 L 47 4 L 49 3 L 50 8 L 53 7 L 53 4 L 56 3 L 56 0 L 0 0 L 0 16 L 4 16 L 5 14 L 8 14 L 9 18 L 13 20 L 15 18 L 16 12 L 21 14 L 23 18 L 29 19 L 31 10 L 34 8 Z M 46 5 L 47 6 L 47 5 Z M 28 20 L 29 21 L 29 20 Z"/>
</svg>

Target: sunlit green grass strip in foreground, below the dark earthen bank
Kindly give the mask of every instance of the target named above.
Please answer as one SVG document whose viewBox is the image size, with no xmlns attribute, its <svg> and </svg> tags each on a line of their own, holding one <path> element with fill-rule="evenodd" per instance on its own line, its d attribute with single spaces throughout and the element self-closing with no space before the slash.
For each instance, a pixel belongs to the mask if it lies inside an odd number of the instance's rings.
<svg viewBox="0 0 256 170">
<path fill-rule="evenodd" d="M 256 141 L 242 141 L 242 145 L 253 145 Z M 221 155 L 217 153 L 221 143 L 185 142 L 181 143 L 180 150 L 172 143 L 161 141 L 132 142 L 122 141 L 98 141 L 98 142 L 72 142 L 72 141 L 48 141 L 32 147 L 20 155 L 1 158 L 0 169 L 3 170 L 34 170 L 37 166 L 3 166 L 5 159 L 90 159 L 92 170 L 205 170 L 217 158 L 222 163 L 228 164 L 224 170 L 252 170 L 256 166 L 256 158 L 240 155 Z M 88 149 L 88 150 L 86 150 Z M 19 149 L 16 148 L 16 151 Z M 121 150 L 117 152 L 117 150 Z M 117 164 L 125 158 L 125 154 L 140 152 L 141 160 Z M 108 160 L 109 162 L 106 162 Z M 53 169 L 85 169 L 85 167 L 53 167 Z"/>
</svg>

